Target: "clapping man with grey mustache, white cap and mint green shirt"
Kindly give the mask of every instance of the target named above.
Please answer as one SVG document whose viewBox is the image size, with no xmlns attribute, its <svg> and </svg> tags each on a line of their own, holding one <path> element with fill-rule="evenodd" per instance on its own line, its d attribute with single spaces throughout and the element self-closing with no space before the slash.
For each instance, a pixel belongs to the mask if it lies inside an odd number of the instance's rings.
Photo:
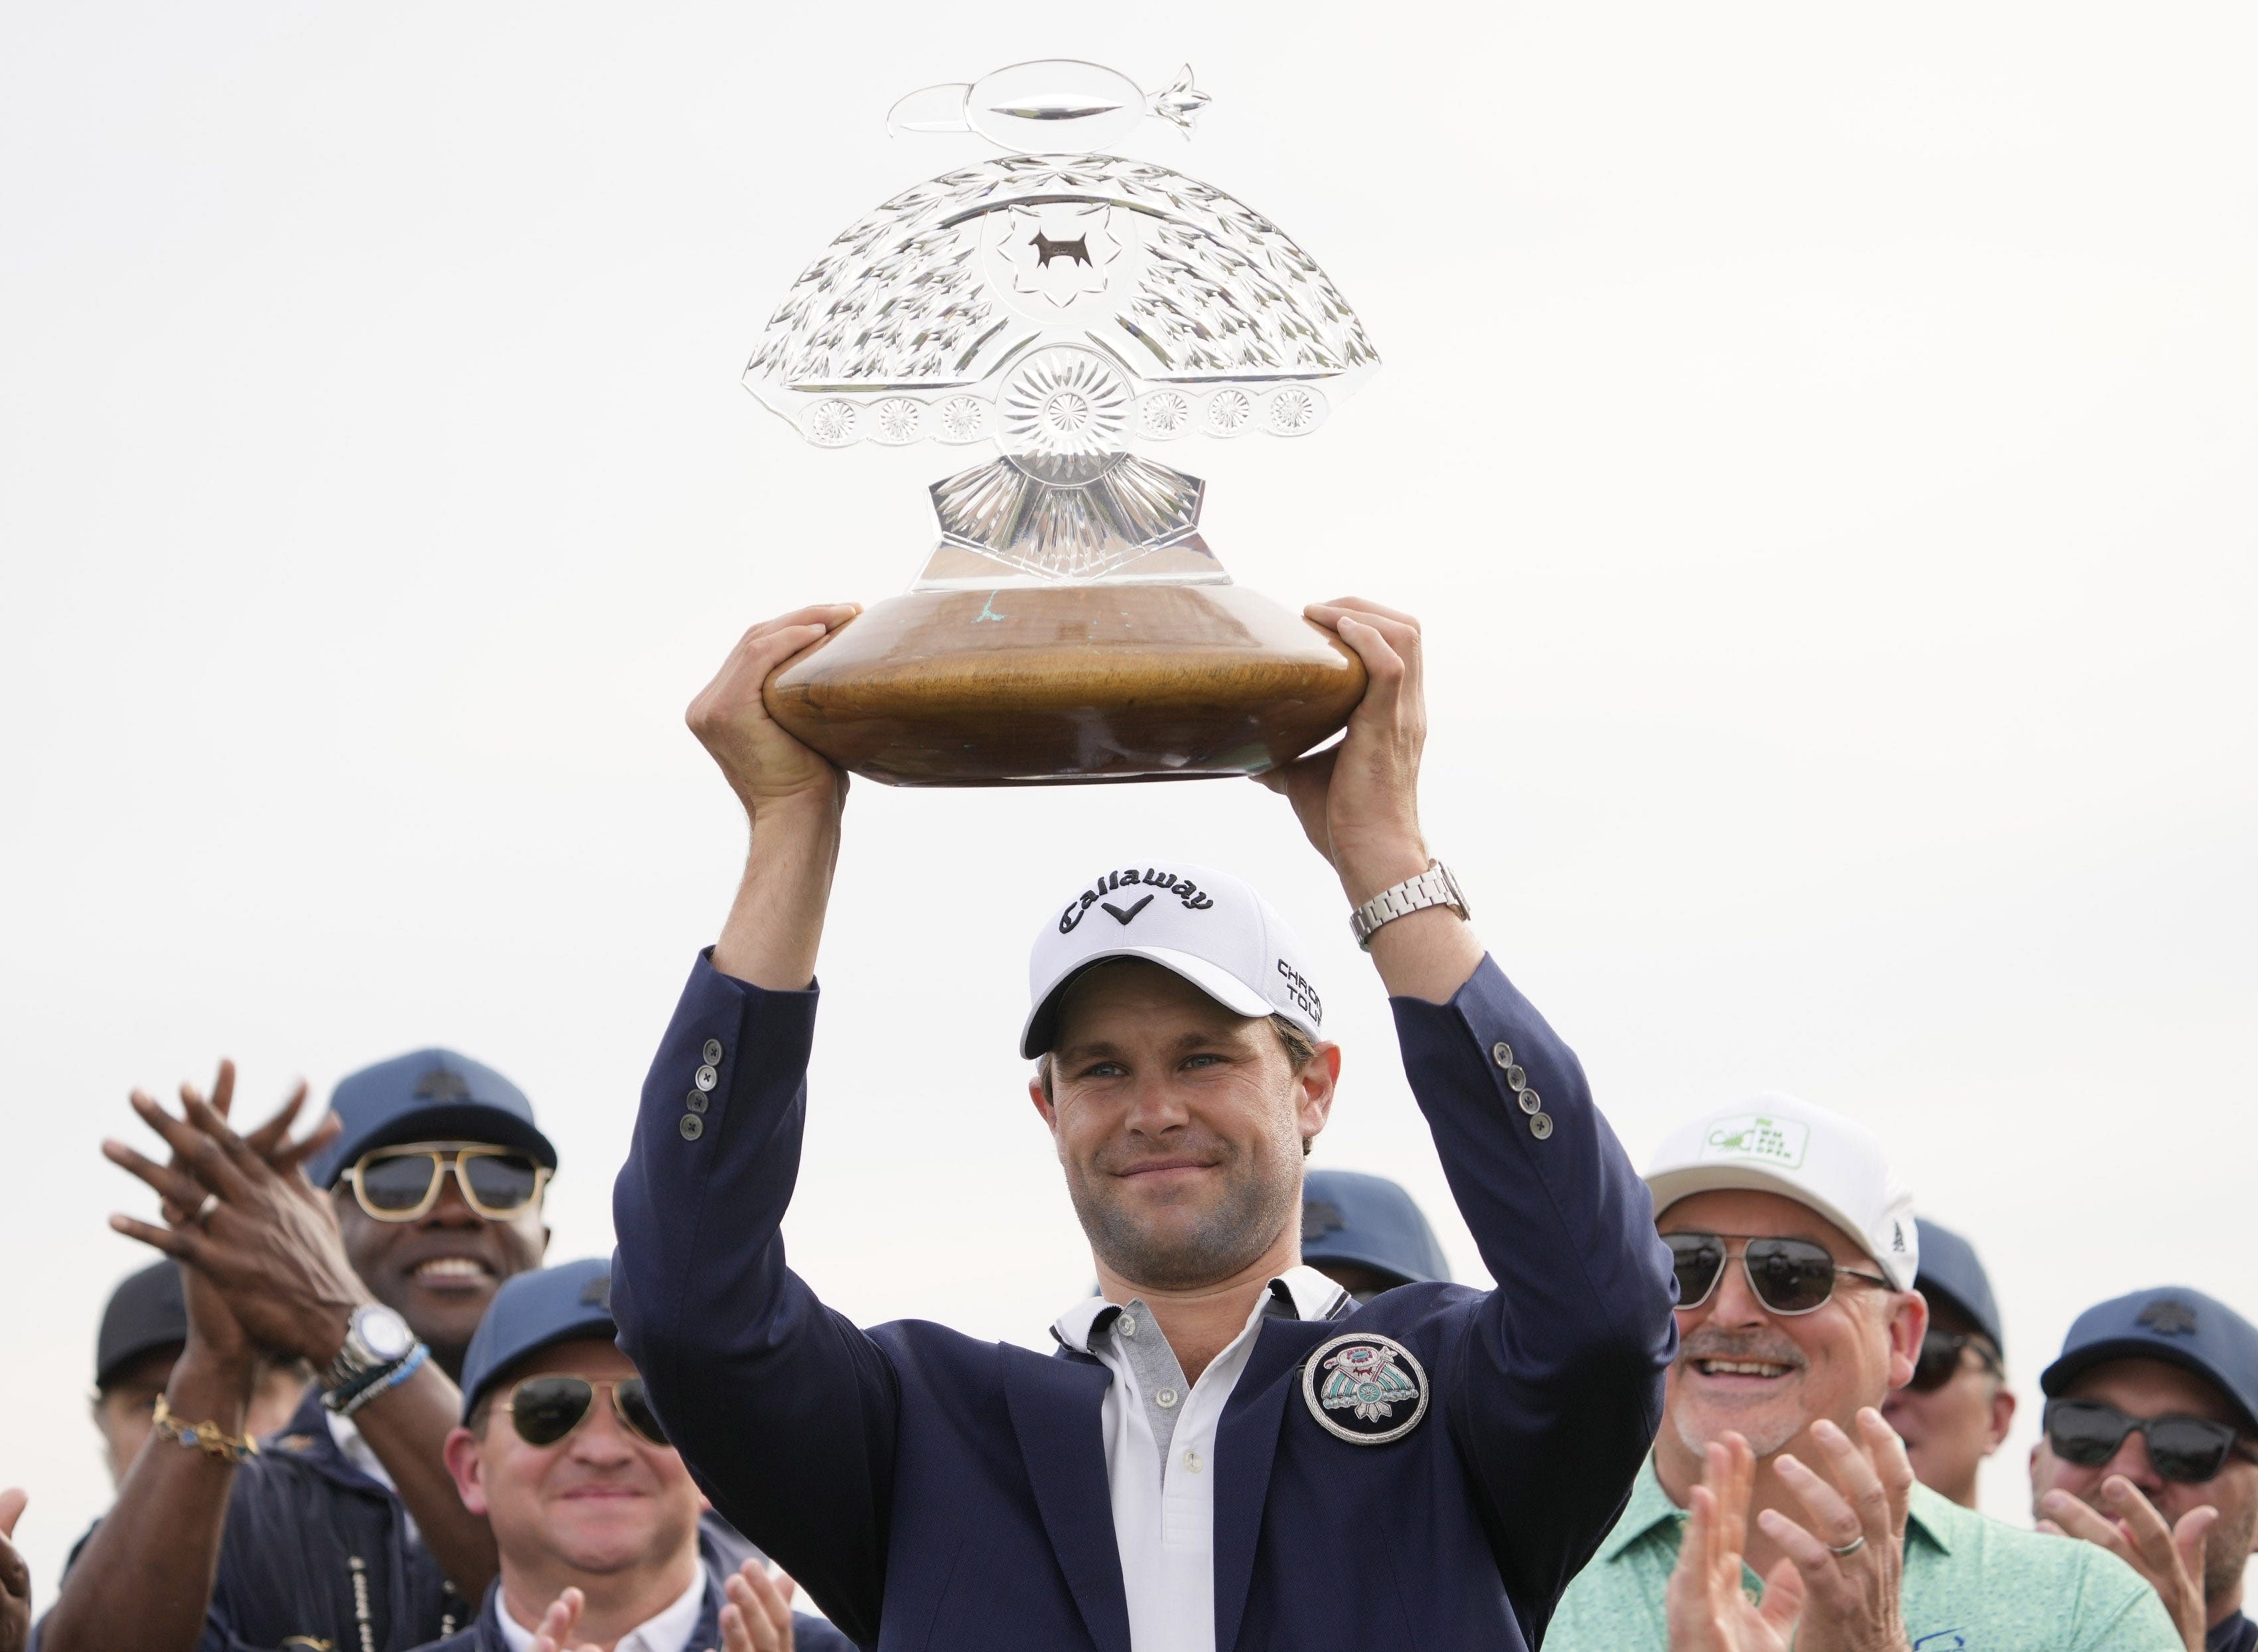
<svg viewBox="0 0 2258 1652">
<path fill-rule="evenodd" d="M 1678 1359 L 1653 1458 L 1549 1652 L 1784 1652 L 1788 1634 L 1797 1652 L 2179 1652 L 2116 1555 L 1915 1483 L 1881 1401 L 1913 1377 L 1928 1304 L 1881 1142 L 1766 1095 L 1673 1131 L 1646 1185 Z"/>
</svg>

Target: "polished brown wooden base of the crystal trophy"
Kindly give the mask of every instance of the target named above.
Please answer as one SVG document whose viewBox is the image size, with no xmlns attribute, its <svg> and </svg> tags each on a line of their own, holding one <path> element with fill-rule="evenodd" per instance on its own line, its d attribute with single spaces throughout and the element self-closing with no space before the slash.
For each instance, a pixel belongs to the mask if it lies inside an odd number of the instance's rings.
<svg viewBox="0 0 2258 1652">
<path fill-rule="evenodd" d="M 1237 585 L 908 591 L 763 691 L 786 731 L 887 785 L 1260 774 L 1362 697 L 1350 648 Z"/>
</svg>

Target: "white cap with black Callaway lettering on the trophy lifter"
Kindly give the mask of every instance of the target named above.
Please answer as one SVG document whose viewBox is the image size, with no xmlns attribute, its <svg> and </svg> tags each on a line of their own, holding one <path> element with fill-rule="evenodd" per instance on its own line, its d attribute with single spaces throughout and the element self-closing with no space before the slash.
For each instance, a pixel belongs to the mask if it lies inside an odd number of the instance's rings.
<svg viewBox="0 0 2258 1652">
<path fill-rule="evenodd" d="M 1312 1038 L 1325 1036 L 1307 952 L 1269 900 L 1228 871 L 1183 860 L 1122 862 L 1082 885 L 1034 937 L 1018 1054 L 1034 1061 L 1050 1049 L 1059 998 L 1109 957 L 1149 959 L 1224 1009 L 1285 1016 Z"/>
</svg>

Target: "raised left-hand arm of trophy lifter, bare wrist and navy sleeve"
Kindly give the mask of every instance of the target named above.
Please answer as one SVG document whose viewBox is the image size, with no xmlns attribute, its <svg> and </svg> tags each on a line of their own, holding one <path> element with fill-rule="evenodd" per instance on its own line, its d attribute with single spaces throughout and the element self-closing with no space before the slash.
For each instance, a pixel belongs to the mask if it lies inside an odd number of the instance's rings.
<svg viewBox="0 0 2258 1652">
<path fill-rule="evenodd" d="M 899 1386 L 876 1343 L 786 1268 L 779 1237 L 847 776 L 761 706 L 768 675 L 851 616 L 817 607 L 756 625 L 691 704 L 752 849 L 720 943 L 691 970 L 644 1083 L 612 1196 L 612 1313 L 720 1512 L 872 1643 Z"/>
</svg>

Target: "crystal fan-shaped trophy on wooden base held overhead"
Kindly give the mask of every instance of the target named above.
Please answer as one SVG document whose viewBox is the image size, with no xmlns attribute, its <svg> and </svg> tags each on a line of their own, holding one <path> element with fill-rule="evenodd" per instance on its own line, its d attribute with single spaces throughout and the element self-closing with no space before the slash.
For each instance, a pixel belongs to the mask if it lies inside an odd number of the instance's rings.
<svg viewBox="0 0 2258 1652">
<path fill-rule="evenodd" d="M 1255 774 L 1348 718 L 1357 657 L 1231 582 L 1204 483 L 1131 451 L 1307 436 L 1380 366 L 1307 253 L 1222 190 L 1102 153 L 1190 135 L 1190 70 L 1147 97 L 1095 63 L 912 93 L 890 131 L 1012 153 L 849 226 L 793 284 L 747 388 L 817 447 L 994 442 L 933 483 L 903 594 L 784 664 L 770 713 L 896 785 Z"/>
</svg>

